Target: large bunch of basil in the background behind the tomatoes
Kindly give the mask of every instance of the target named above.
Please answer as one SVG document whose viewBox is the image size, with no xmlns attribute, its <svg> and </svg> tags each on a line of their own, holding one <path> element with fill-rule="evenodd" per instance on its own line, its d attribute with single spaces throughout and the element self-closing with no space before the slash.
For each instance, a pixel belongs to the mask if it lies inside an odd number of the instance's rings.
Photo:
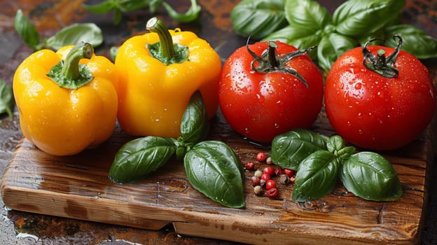
<svg viewBox="0 0 437 245">
<path fill-rule="evenodd" d="M 251 34 L 255 40 L 278 40 L 300 49 L 318 46 L 317 55 L 309 55 L 325 71 L 342 53 L 370 38 L 381 38 L 383 45 L 392 46 L 394 34 L 404 38 L 403 50 L 417 58 L 437 57 L 436 38 L 412 25 L 398 25 L 404 6 L 405 0 L 349 0 L 331 15 L 312 0 L 244 0 L 231 12 L 231 20 L 237 34 Z"/>
</svg>

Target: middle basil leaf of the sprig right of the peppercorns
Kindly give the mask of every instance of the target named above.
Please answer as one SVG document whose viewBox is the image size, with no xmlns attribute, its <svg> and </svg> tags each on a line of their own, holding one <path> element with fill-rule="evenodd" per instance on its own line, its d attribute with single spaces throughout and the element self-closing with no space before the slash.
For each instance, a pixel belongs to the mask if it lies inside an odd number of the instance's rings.
<svg viewBox="0 0 437 245">
<path fill-rule="evenodd" d="M 329 151 L 309 155 L 298 167 L 292 199 L 305 202 L 332 193 L 337 184 L 339 165 L 339 158 Z"/>
</svg>

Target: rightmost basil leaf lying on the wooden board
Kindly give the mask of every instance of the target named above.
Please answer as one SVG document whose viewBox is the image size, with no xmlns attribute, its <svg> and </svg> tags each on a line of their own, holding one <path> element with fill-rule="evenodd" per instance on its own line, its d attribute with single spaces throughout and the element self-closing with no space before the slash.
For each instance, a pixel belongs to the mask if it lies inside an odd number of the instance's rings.
<svg viewBox="0 0 437 245">
<path fill-rule="evenodd" d="M 382 155 L 355 153 L 343 162 L 340 179 L 345 188 L 365 200 L 393 201 L 401 197 L 398 174 Z"/>
</svg>

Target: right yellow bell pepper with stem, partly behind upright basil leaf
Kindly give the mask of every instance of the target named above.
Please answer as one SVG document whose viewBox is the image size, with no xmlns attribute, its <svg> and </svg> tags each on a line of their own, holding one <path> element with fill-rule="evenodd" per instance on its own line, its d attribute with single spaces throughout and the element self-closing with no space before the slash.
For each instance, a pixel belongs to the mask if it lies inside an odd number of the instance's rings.
<svg viewBox="0 0 437 245">
<path fill-rule="evenodd" d="M 127 39 L 116 55 L 118 122 L 134 136 L 176 138 L 196 90 L 208 118 L 216 114 L 221 60 L 193 32 L 167 30 L 156 18 L 147 22 L 147 29 L 151 32 Z"/>
</svg>

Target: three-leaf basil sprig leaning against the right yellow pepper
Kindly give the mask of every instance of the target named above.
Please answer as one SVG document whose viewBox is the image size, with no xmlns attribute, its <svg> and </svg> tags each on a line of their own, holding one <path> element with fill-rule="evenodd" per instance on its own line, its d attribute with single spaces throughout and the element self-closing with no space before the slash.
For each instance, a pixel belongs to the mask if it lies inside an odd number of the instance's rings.
<svg viewBox="0 0 437 245">
<path fill-rule="evenodd" d="M 226 207 L 244 207 L 244 170 L 240 159 L 221 141 L 202 141 L 208 129 L 207 112 L 197 91 L 183 113 L 181 137 L 141 137 L 127 142 L 116 153 L 109 179 L 133 183 L 150 176 L 169 160 L 183 159 L 186 177 L 193 188 Z"/>
</svg>

